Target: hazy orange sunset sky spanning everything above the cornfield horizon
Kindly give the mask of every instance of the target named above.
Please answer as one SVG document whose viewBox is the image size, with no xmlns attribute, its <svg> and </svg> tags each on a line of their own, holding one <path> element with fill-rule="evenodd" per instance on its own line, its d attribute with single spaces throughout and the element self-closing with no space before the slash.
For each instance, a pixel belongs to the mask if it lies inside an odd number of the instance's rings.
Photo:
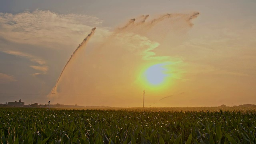
<svg viewBox="0 0 256 144">
<path fill-rule="evenodd" d="M 256 1 L 0 2 L 0 103 L 141 107 L 143 90 L 146 107 L 256 104 Z"/>
</svg>

